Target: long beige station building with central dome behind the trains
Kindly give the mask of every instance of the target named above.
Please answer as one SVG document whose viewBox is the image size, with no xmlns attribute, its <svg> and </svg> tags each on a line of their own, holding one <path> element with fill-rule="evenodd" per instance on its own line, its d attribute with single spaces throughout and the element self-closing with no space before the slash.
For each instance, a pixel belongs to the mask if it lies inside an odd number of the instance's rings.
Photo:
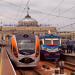
<svg viewBox="0 0 75 75">
<path fill-rule="evenodd" d="M 33 19 L 29 14 L 25 16 L 23 20 L 18 21 L 16 26 L 1 26 L 0 34 L 11 35 L 12 33 L 21 33 L 21 34 L 45 34 L 50 31 L 52 34 L 56 34 L 56 27 L 50 26 L 40 26 L 38 22 Z"/>
</svg>

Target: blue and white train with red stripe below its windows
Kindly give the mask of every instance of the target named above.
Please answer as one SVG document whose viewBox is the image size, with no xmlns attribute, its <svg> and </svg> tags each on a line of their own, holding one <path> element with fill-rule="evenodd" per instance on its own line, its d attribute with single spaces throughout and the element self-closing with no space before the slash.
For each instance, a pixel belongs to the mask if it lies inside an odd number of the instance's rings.
<svg viewBox="0 0 75 75">
<path fill-rule="evenodd" d="M 40 36 L 41 59 L 59 60 L 61 52 L 61 38 L 56 34 L 45 34 Z"/>
</svg>

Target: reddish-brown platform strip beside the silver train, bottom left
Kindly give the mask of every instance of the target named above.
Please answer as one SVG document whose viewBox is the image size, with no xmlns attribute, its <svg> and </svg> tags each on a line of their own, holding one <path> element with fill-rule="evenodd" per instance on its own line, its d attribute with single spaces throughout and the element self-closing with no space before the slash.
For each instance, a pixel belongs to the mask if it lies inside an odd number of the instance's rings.
<svg viewBox="0 0 75 75">
<path fill-rule="evenodd" d="M 6 49 L 2 50 L 2 74 L 1 75 L 16 75 L 13 66 L 8 58 Z"/>
</svg>

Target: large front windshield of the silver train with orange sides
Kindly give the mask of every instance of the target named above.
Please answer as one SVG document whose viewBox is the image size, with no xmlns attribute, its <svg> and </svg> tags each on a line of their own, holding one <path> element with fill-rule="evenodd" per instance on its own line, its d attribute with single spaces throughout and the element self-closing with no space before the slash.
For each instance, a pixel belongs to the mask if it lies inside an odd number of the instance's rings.
<svg viewBox="0 0 75 75">
<path fill-rule="evenodd" d="M 30 55 L 35 52 L 35 42 L 31 40 L 18 41 L 19 52 L 24 55 Z"/>
</svg>

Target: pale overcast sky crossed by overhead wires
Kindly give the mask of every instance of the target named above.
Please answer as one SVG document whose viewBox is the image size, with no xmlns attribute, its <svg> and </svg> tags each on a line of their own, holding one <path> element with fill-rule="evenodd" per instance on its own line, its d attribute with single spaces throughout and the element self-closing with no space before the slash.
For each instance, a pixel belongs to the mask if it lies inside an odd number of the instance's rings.
<svg viewBox="0 0 75 75">
<path fill-rule="evenodd" d="M 39 24 L 75 31 L 75 0 L 0 0 L 0 23 L 17 24 L 27 14 Z"/>
</svg>

